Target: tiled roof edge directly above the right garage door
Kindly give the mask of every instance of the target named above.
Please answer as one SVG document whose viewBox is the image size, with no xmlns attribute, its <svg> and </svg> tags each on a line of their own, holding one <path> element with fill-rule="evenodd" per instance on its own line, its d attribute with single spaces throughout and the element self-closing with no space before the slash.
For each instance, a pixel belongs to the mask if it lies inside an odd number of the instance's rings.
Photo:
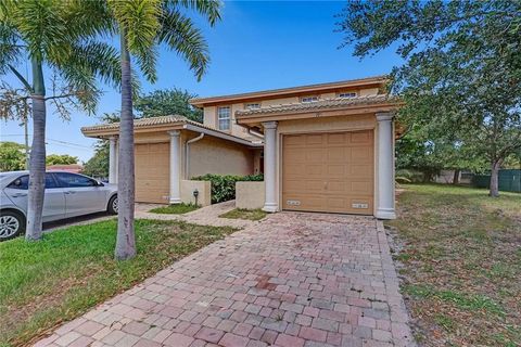
<svg viewBox="0 0 521 347">
<path fill-rule="evenodd" d="M 269 115 L 274 113 L 305 112 L 323 108 L 336 108 L 345 106 L 363 106 L 379 104 L 395 104 L 397 99 L 387 94 L 354 97 L 354 98 L 332 98 L 322 99 L 315 102 L 297 102 L 290 104 L 269 105 L 260 108 L 236 111 L 237 116 Z"/>
</svg>

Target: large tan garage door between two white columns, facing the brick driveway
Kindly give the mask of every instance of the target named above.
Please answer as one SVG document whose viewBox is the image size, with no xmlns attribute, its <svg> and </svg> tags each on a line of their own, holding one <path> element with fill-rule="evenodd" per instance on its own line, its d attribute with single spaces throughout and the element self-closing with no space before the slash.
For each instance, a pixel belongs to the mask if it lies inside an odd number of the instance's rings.
<svg viewBox="0 0 521 347">
<path fill-rule="evenodd" d="M 372 130 L 291 134 L 282 141 L 282 208 L 372 215 Z"/>
</svg>

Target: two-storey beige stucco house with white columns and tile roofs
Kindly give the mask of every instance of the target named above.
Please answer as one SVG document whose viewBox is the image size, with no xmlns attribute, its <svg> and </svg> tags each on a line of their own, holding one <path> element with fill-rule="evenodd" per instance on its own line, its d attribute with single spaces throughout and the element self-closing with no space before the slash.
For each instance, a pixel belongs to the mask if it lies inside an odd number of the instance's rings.
<svg viewBox="0 0 521 347">
<path fill-rule="evenodd" d="M 394 124 L 398 103 L 385 77 L 193 99 L 198 124 L 179 116 L 139 119 L 136 200 L 181 201 L 182 182 L 203 174 L 264 171 L 264 209 L 395 218 Z M 111 139 L 118 125 L 81 129 Z"/>
</svg>

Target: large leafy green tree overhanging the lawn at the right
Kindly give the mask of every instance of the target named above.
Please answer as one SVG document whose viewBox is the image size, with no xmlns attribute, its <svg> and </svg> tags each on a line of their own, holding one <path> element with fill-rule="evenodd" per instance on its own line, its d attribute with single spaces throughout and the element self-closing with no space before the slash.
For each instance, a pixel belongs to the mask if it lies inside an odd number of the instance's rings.
<svg viewBox="0 0 521 347">
<path fill-rule="evenodd" d="M 498 169 L 521 149 L 521 2 L 353 1 L 339 29 L 356 56 L 397 47 L 398 119 L 436 125 L 433 137 L 486 158 L 490 195 L 498 196 Z"/>
</svg>

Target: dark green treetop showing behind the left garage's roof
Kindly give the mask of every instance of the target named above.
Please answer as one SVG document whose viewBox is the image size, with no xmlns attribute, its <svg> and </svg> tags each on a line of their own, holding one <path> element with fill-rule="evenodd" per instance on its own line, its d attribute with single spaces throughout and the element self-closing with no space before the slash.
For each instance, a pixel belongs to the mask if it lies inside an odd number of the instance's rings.
<svg viewBox="0 0 521 347">
<path fill-rule="evenodd" d="M 147 95 L 138 97 L 134 108 L 138 111 L 140 118 L 180 115 L 203 123 L 202 110 L 194 108 L 189 102 L 190 99 L 196 97 L 187 90 L 177 88 L 154 90 Z"/>
</svg>

